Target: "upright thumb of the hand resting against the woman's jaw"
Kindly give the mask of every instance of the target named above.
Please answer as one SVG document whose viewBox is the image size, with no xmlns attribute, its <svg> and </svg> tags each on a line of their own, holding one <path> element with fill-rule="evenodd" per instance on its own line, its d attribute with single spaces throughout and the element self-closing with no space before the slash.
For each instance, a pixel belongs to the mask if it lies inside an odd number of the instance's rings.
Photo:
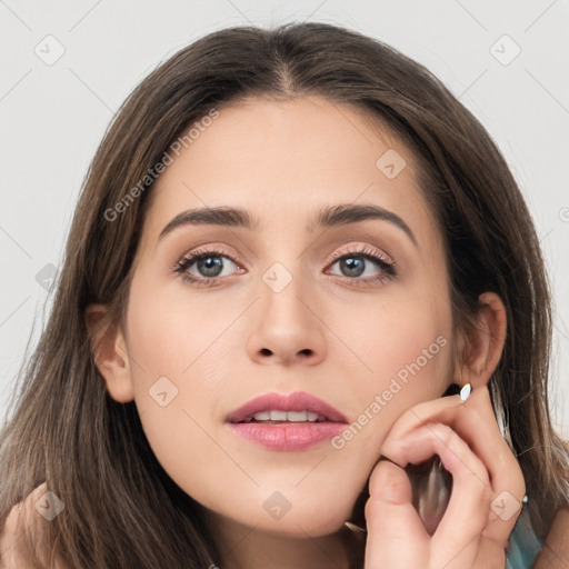
<svg viewBox="0 0 569 569">
<path fill-rule="evenodd" d="M 426 566 L 429 536 L 411 503 L 411 485 L 405 470 L 380 460 L 371 473 L 369 493 L 365 568 Z"/>
</svg>

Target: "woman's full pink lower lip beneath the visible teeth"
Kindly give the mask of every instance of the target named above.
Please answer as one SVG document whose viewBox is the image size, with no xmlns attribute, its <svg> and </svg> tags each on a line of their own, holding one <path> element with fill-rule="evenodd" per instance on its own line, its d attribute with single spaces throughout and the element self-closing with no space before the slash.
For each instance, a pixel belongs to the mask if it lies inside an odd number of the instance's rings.
<svg viewBox="0 0 569 569">
<path fill-rule="evenodd" d="M 246 440 L 270 450 L 298 451 L 315 447 L 346 429 L 343 422 L 230 422 L 229 427 Z"/>
</svg>

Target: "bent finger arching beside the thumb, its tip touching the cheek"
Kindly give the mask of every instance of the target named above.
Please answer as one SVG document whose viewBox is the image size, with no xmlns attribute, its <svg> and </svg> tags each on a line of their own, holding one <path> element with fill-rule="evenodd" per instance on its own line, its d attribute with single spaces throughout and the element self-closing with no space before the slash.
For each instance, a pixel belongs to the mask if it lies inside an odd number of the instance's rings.
<svg viewBox="0 0 569 569">
<path fill-rule="evenodd" d="M 403 467 L 408 462 L 422 462 L 435 453 L 440 457 L 452 475 L 452 492 L 431 538 L 431 560 L 433 567 L 446 569 L 471 567 L 488 520 L 492 495 L 481 460 L 450 427 L 442 423 L 427 423 L 411 431 L 388 452 Z"/>
</svg>

